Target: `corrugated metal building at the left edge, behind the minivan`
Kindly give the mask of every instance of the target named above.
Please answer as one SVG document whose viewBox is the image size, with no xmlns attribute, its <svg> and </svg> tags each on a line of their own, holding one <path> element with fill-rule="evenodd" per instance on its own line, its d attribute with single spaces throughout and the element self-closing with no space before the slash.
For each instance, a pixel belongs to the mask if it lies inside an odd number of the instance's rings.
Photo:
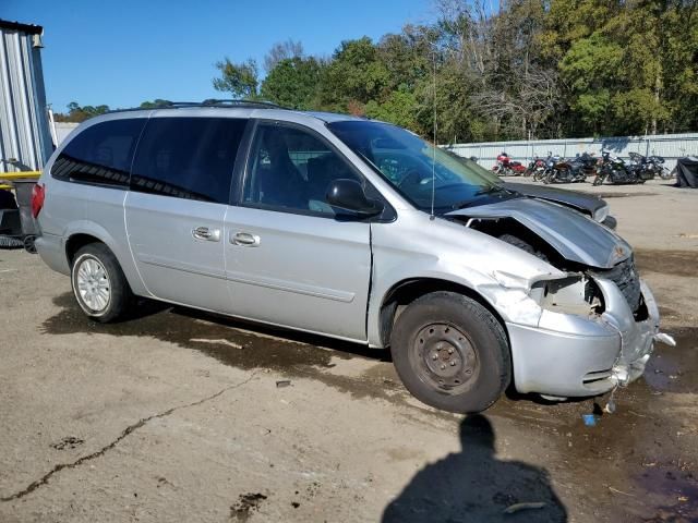
<svg viewBox="0 0 698 523">
<path fill-rule="evenodd" d="M 36 171 L 53 145 L 38 25 L 0 20 L 0 172 Z"/>
</svg>

